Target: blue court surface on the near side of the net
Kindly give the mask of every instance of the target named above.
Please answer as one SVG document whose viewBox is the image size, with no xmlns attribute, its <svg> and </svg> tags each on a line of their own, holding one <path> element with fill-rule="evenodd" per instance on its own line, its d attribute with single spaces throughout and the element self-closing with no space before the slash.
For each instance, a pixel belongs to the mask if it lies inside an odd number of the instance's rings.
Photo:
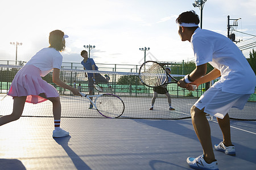
<svg viewBox="0 0 256 170">
<path fill-rule="evenodd" d="M 222 134 L 209 121 L 213 145 Z M 0 127 L 0 169 L 190 169 L 203 153 L 191 119 L 62 118 L 70 136 L 52 138 L 52 117 Z M 256 121 L 231 121 L 236 156 L 214 151 L 220 169 L 255 169 Z"/>
</svg>

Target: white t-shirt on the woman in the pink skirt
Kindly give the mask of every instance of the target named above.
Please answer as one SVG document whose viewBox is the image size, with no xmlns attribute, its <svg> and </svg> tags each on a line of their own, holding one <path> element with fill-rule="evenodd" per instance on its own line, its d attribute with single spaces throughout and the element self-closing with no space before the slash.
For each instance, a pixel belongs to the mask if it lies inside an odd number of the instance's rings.
<svg viewBox="0 0 256 170">
<path fill-rule="evenodd" d="M 40 76 L 46 76 L 53 68 L 61 68 L 62 59 L 63 56 L 55 48 L 43 48 L 26 65 L 38 67 L 41 70 Z"/>
</svg>

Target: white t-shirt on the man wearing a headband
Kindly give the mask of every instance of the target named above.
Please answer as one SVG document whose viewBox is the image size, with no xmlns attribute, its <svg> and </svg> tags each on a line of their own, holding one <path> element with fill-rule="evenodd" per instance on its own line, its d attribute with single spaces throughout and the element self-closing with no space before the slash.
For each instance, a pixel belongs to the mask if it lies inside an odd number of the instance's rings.
<svg viewBox="0 0 256 170">
<path fill-rule="evenodd" d="M 233 94 L 253 94 L 256 77 L 240 49 L 230 39 L 206 29 L 197 28 L 191 37 L 196 66 L 209 62 L 220 70 L 221 79 L 214 87 Z"/>
</svg>

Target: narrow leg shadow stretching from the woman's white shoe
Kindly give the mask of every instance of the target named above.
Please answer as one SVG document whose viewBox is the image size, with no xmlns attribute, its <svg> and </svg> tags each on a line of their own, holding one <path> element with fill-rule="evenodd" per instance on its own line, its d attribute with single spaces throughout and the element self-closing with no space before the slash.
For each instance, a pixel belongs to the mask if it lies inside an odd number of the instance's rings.
<svg viewBox="0 0 256 170">
<path fill-rule="evenodd" d="M 77 155 L 69 146 L 68 142 L 69 139 L 71 138 L 70 135 L 67 137 L 62 137 L 62 138 L 53 138 L 60 146 L 62 146 L 67 152 L 69 158 L 72 160 L 73 164 L 77 168 L 77 170 L 90 170 L 91 168 Z"/>
</svg>

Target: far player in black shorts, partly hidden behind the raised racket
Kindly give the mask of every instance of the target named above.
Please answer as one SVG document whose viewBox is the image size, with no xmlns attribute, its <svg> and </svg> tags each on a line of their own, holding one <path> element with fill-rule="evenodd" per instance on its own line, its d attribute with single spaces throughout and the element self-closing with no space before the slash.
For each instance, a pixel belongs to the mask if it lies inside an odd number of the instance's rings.
<svg viewBox="0 0 256 170">
<path fill-rule="evenodd" d="M 171 69 L 169 67 L 166 67 L 166 71 L 168 74 L 171 74 Z M 171 78 L 168 77 L 168 82 L 171 81 Z M 169 110 L 174 111 L 175 109 L 172 107 L 172 103 L 171 103 L 171 96 L 166 88 L 166 85 L 163 86 L 159 86 L 159 87 L 155 87 L 154 88 L 154 96 L 152 98 L 152 105 L 150 107 L 150 110 L 154 109 L 154 104 L 155 104 L 155 99 L 156 97 L 158 97 L 158 94 L 163 94 L 166 95 L 167 99 L 168 99 L 168 103 L 169 103 Z"/>
</svg>

